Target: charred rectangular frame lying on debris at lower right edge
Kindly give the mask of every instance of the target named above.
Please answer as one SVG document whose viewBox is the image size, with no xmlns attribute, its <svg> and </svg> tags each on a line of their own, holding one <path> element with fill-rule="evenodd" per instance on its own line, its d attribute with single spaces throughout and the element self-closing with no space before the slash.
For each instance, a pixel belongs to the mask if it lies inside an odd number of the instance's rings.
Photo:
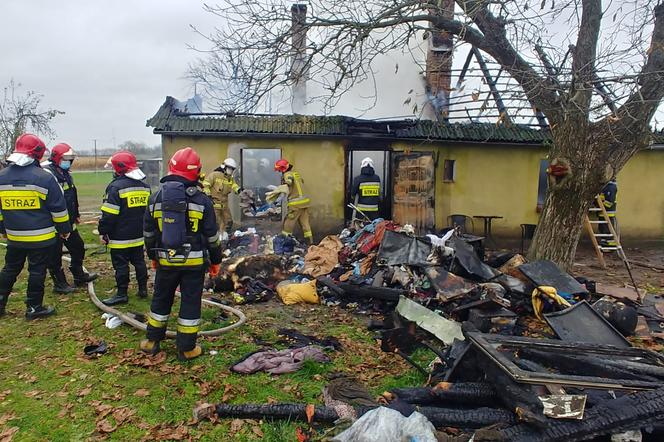
<svg viewBox="0 0 664 442">
<path fill-rule="evenodd" d="M 473 348 L 486 355 L 515 382 L 535 385 L 566 385 L 607 390 L 650 390 L 661 388 L 661 382 L 648 379 L 609 379 L 579 374 L 560 374 L 552 371 L 527 371 L 515 361 L 526 349 L 539 350 L 552 355 L 568 357 L 582 355 L 609 361 L 629 361 L 664 367 L 664 356 L 640 348 L 620 348 L 611 345 L 565 342 L 556 339 L 535 339 L 519 336 L 502 336 L 487 333 L 467 332 L 466 337 Z"/>
</svg>

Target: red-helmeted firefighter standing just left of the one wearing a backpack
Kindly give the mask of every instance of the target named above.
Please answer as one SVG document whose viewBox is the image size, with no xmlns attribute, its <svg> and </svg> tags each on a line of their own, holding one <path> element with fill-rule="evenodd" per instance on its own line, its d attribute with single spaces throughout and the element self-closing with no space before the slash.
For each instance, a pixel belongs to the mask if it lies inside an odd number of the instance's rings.
<svg viewBox="0 0 664 442">
<path fill-rule="evenodd" d="M 150 197 L 150 186 L 143 180 L 145 174 L 138 168 L 136 157 L 128 151 L 111 157 L 113 181 L 106 187 L 101 206 L 99 234 L 111 250 L 117 291 L 104 299 L 106 305 L 129 302 L 129 264 L 136 271 L 138 297 L 148 296 L 148 270 L 143 251 L 143 215 Z"/>
</svg>

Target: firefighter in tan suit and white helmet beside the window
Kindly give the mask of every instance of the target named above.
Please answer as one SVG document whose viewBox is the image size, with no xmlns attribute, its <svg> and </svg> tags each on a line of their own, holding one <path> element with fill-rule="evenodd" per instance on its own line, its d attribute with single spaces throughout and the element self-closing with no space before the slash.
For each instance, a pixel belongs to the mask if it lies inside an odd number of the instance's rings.
<svg viewBox="0 0 664 442">
<path fill-rule="evenodd" d="M 220 229 L 230 235 L 233 230 L 233 217 L 228 205 L 228 195 L 231 192 L 239 194 L 242 188 L 235 182 L 233 173 L 237 169 L 237 163 L 233 158 L 226 158 L 223 163 L 214 169 L 203 181 L 205 193 L 207 193 L 214 204 L 214 213 Z"/>
</svg>

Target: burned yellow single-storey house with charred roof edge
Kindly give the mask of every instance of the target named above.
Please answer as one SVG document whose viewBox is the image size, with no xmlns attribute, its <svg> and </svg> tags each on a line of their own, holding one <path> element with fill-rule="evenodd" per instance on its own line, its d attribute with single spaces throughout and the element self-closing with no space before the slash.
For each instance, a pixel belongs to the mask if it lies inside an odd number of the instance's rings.
<svg viewBox="0 0 664 442">
<path fill-rule="evenodd" d="M 205 171 L 235 158 L 247 188 L 261 159 L 270 166 L 288 159 L 312 199 L 317 235 L 338 231 L 350 216 L 350 181 L 366 156 L 384 183 L 383 216 L 420 231 L 448 226 L 454 214 L 496 215 L 503 218 L 494 222 L 494 234 L 518 237 L 521 224 L 537 224 L 547 185 L 547 133 L 525 125 L 193 113 L 178 110 L 172 97 L 147 125 L 162 136 L 164 158 L 192 146 Z M 639 152 L 618 176 L 618 215 L 627 239 L 664 234 L 661 147 Z M 268 178 L 279 184 L 278 175 Z M 481 232 L 481 220 L 473 221 Z"/>
</svg>

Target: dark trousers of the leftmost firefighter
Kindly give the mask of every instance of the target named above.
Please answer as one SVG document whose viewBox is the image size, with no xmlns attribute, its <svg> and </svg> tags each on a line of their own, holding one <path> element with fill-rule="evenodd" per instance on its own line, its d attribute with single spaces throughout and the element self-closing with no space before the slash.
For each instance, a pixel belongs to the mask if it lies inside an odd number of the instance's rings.
<svg viewBox="0 0 664 442">
<path fill-rule="evenodd" d="M 44 280 L 46 267 L 53 253 L 52 246 L 38 249 L 21 249 L 8 246 L 5 254 L 5 266 L 0 272 L 0 306 L 7 305 L 9 294 L 14 288 L 16 278 L 28 261 L 28 290 L 26 304 L 39 307 L 44 301 Z"/>
</svg>

